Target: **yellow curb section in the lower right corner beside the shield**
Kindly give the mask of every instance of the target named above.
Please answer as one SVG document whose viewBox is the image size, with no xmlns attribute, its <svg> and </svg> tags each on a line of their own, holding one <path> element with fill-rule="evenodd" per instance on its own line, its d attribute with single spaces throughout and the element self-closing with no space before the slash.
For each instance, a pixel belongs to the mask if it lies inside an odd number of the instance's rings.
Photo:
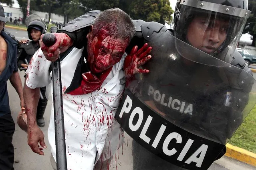
<svg viewBox="0 0 256 170">
<path fill-rule="evenodd" d="M 239 160 L 241 162 L 245 162 L 252 166 L 256 166 L 256 154 L 249 152 L 248 150 L 244 150 L 237 146 L 233 146 L 231 144 L 226 144 L 227 152 L 226 156 Z"/>
</svg>

